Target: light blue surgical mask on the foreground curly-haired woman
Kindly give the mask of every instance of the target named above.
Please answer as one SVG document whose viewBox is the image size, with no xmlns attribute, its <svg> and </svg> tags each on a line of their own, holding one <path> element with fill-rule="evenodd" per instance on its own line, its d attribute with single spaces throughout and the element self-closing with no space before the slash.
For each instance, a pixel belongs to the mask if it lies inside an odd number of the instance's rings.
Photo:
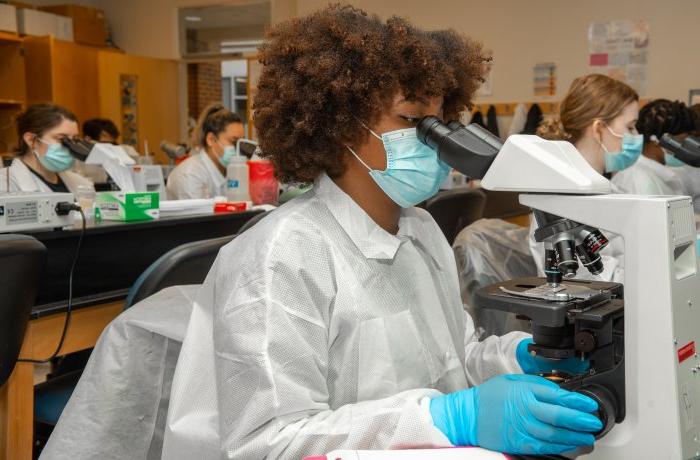
<svg viewBox="0 0 700 460">
<path fill-rule="evenodd" d="M 367 129 L 384 144 L 386 169 L 372 169 L 350 147 L 348 150 L 369 170 L 369 175 L 389 198 L 402 208 L 410 208 L 438 192 L 450 174 L 450 167 L 418 140 L 415 128 L 389 131 L 381 136 Z"/>
</svg>

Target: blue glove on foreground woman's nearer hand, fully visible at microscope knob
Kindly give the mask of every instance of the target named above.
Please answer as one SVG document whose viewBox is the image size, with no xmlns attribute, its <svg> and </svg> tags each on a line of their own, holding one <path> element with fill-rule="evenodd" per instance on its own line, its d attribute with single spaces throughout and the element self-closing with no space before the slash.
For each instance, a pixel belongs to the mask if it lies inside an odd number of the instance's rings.
<svg viewBox="0 0 700 460">
<path fill-rule="evenodd" d="M 499 375 L 430 401 L 433 423 L 457 446 L 560 454 L 593 444 L 603 428 L 591 398 L 535 375 Z"/>
</svg>

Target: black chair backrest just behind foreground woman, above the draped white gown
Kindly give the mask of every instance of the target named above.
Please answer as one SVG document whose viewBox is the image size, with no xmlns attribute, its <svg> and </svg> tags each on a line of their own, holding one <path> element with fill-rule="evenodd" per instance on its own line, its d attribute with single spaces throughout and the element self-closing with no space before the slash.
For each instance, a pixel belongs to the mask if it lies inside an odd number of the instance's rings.
<svg viewBox="0 0 700 460">
<path fill-rule="evenodd" d="M 166 252 L 139 276 L 129 290 L 124 308 L 127 309 L 166 287 L 203 283 L 219 249 L 234 237 L 231 235 L 194 241 Z"/>
</svg>

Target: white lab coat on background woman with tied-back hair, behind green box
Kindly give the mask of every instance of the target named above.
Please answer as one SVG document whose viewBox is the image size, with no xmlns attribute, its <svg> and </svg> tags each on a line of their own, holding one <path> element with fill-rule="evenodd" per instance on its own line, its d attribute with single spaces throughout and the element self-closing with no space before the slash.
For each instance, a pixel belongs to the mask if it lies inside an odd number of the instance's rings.
<svg viewBox="0 0 700 460">
<path fill-rule="evenodd" d="M 226 178 L 204 150 L 186 159 L 168 175 L 168 198 L 187 200 L 226 194 Z"/>
</svg>

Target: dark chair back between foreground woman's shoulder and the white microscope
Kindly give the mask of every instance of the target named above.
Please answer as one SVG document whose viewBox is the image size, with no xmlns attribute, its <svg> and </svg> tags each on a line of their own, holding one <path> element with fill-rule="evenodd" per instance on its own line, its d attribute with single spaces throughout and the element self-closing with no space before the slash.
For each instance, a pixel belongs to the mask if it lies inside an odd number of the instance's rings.
<svg viewBox="0 0 700 460">
<path fill-rule="evenodd" d="M 481 219 L 486 196 L 481 190 L 464 188 L 438 193 L 425 209 L 433 216 L 450 245 L 467 225 Z"/>
</svg>

